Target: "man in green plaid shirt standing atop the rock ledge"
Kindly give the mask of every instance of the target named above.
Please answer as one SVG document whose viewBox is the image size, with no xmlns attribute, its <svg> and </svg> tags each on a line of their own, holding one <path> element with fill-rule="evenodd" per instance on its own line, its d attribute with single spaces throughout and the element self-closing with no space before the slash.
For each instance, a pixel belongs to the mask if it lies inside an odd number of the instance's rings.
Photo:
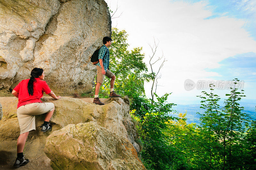
<svg viewBox="0 0 256 170">
<path fill-rule="evenodd" d="M 104 76 L 106 75 L 108 78 L 111 78 L 110 81 L 110 94 L 109 97 L 120 97 L 120 95 L 117 95 L 114 92 L 114 83 L 116 76 L 109 70 L 109 49 L 108 47 L 111 46 L 112 39 L 110 37 L 104 37 L 103 38 L 103 46 L 100 48 L 99 51 L 99 63 L 96 64 L 97 67 L 97 84 L 95 87 L 95 95 L 93 103 L 97 105 L 104 105 L 100 101 L 99 98 L 99 91 L 100 91 L 100 85 L 103 84 Z"/>
</svg>

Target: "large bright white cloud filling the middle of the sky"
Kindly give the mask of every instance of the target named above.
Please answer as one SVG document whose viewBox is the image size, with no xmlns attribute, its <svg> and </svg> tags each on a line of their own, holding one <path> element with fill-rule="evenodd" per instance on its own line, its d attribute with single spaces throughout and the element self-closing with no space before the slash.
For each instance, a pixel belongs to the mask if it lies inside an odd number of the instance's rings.
<svg viewBox="0 0 256 170">
<path fill-rule="evenodd" d="M 130 0 L 119 1 L 118 6 L 123 14 L 112 20 L 112 26 L 117 23 L 117 28 L 127 31 L 132 48 L 143 47 L 146 63 L 150 55 L 148 43 L 153 44 L 153 36 L 160 41 L 158 55 L 162 55 L 163 50 L 168 61 L 162 70 L 160 84 L 164 87 L 159 87 L 159 94 L 173 92 L 174 95 L 195 96 L 197 91 L 184 89 L 187 78 L 197 81 L 219 76 L 204 69 L 217 68 L 218 62 L 230 56 L 256 53 L 256 41 L 244 29 L 246 20 L 227 16 L 205 19 L 212 11 L 203 1 L 191 4 Z M 149 87 L 146 85 L 147 95 Z"/>
</svg>

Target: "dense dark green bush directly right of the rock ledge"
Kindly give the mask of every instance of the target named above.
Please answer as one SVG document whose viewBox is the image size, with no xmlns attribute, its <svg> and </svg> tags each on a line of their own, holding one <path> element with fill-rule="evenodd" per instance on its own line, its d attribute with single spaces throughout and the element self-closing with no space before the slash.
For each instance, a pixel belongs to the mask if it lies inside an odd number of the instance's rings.
<svg viewBox="0 0 256 170">
<path fill-rule="evenodd" d="M 141 152 L 142 162 L 147 169 L 186 169 L 182 153 L 169 142 L 168 129 L 170 121 L 177 118 L 168 115 L 172 111 L 173 103 L 166 100 L 170 94 L 166 93 L 151 104 L 151 100 L 139 97 L 134 99 L 132 117 L 136 117 L 138 135 L 143 142 Z M 141 102 L 141 103 L 140 103 Z M 178 119 L 179 120 L 179 119 Z"/>
</svg>

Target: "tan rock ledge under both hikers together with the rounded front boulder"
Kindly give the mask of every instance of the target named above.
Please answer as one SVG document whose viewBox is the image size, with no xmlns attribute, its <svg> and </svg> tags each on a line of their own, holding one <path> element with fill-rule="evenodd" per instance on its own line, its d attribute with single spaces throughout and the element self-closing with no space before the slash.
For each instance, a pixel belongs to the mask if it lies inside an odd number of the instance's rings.
<svg viewBox="0 0 256 170">
<path fill-rule="evenodd" d="M 53 100 L 52 131 L 32 130 L 24 153 L 31 160 L 20 169 L 144 169 L 138 158 L 139 145 L 129 114 L 128 98 L 102 99 L 106 105 L 92 104 L 92 98 L 63 97 Z M 20 129 L 15 97 L 0 97 L 0 169 L 10 168 L 16 158 Z M 36 127 L 44 115 L 36 116 Z M 47 155 L 47 156 L 46 156 Z M 52 168 L 51 168 L 52 167 Z"/>
</svg>

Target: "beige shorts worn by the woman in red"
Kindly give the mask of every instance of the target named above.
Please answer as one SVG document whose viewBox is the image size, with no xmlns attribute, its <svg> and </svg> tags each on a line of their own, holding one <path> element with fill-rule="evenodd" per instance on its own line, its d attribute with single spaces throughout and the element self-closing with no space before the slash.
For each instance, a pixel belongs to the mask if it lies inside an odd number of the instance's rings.
<svg viewBox="0 0 256 170">
<path fill-rule="evenodd" d="M 53 103 L 30 103 L 17 109 L 20 134 L 36 130 L 35 115 L 42 115 L 54 109 Z"/>
</svg>

